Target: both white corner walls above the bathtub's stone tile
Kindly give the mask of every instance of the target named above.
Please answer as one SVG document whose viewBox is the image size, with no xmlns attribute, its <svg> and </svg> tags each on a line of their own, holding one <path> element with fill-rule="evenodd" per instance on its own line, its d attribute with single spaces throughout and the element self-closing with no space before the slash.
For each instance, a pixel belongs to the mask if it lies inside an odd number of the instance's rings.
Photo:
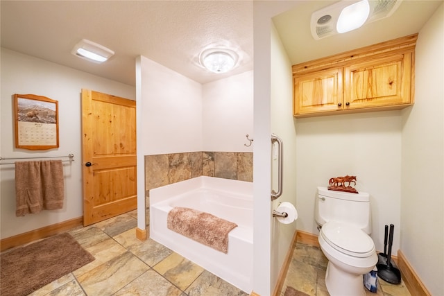
<svg viewBox="0 0 444 296">
<path fill-rule="evenodd" d="M 251 152 L 253 71 L 205 85 L 141 57 L 144 155 Z"/>
</svg>

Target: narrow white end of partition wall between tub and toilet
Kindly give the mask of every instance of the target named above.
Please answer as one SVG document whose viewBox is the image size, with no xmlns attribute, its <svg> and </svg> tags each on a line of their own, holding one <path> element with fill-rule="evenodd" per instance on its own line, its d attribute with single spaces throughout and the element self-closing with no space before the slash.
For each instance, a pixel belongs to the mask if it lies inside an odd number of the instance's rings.
<svg viewBox="0 0 444 296">
<path fill-rule="evenodd" d="M 271 295 L 274 280 L 280 271 L 271 262 L 278 252 L 279 242 L 271 238 L 271 18 L 295 6 L 293 1 L 254 1 L 254 279 L 253 289 L 259 295 Z M 279 60 L 279 58 L 276 58 Z M 279 76 L 282 73 L 279 71 Z M 272 268 L 273 264 L 273 268 Z M 272 282 L 273 281 L 273 282 Z"/>
</svg>

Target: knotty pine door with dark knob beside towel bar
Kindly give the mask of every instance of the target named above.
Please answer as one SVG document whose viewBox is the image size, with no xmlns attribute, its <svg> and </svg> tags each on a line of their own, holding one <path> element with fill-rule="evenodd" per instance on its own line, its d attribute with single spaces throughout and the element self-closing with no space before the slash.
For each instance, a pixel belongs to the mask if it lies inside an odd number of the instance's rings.
<svg viewBox="0 0 444 296">
<path fill-rule="evenodd" d="M 82 89 L 83 225 L 137 208 L 136 103 Z"/>
</svg>

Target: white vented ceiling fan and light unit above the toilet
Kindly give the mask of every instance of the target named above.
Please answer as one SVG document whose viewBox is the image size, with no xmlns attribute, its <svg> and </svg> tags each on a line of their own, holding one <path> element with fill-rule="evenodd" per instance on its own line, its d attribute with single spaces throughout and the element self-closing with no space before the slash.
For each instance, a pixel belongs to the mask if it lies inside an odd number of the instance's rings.
<svg viewBox="0 0 444 296">
<path fill-rule="evenodd" d="M 355 30 L 360 26 L 393 15 L 402 0 L 343 0 L 313 12 L 310 20 L 311 35 L 320 40 L 325 37 Z M 368 12 L 367 12 L 368 11 Z M 361 12 L 361 17 L 358 17 Z M 350 18 L 349 18 L 350 17 Z"/>
</svg>

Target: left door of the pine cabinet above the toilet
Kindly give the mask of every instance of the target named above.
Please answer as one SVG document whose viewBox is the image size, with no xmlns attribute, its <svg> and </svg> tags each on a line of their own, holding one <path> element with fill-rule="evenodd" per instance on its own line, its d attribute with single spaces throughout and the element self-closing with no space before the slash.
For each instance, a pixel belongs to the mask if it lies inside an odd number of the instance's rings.
<svg viewBox="0 0 444 296">
<path fill-rule="evenodd" d="M 294 77 L 295 116 L 342 110 L 342 68 Z"/>
</svg>

